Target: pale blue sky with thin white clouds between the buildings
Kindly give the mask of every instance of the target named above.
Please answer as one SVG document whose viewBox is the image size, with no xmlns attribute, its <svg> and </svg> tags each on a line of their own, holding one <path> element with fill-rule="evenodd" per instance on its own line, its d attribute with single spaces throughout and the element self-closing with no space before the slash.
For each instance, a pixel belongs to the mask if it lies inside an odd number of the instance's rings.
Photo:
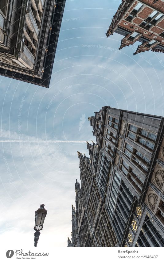
<svg viewBox="0 0 164 262">
<path fill-rule="evenodd" d="M 96 141 L 88 117 L 103 106 L 164 116 L 164 54 L 133 56 L 106 37 L 121 1 L 67 0 L 49 89 L 0 76 L 0 244 L 33 248 L 35 210 L 48 210 L 37 248 L 71 238 L 77 151 Z M 9 247 L 9 248 L 8 248 Z"/>
</svg>

